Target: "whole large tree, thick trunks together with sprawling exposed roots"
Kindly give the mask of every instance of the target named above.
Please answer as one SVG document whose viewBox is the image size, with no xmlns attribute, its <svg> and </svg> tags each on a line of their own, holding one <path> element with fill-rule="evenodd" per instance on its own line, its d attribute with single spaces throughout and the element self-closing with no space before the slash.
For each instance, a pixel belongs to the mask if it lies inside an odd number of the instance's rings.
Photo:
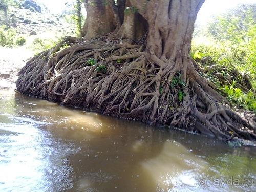
<svg viewBox="0 0 256 192">
<path fill-rule="evenodd" d="M 221 139 L 256 138 L 255 121 L 229 109 L 189 55 L 204 0 L 83 2 L 84 37 L 32 58 L 17 91 Z"/>
</svg>

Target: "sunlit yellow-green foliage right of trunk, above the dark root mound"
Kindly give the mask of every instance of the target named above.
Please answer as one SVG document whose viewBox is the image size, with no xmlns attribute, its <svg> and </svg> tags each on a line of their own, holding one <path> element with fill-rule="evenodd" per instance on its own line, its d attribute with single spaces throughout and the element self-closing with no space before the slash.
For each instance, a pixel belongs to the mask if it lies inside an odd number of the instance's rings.
<svg viewBox="0 0 256 192">
<path fill-rule="evenodd" d="M 197 29 L 191 49 L 194 59 L 210 56 L 212 63 L 247 74 L 256 87 L 256 4 L 239 5 Z M 199 32 L 200 31 L 200 32 Z M 205 63 L 207 64 L 207 63 Z"/>
</svg>

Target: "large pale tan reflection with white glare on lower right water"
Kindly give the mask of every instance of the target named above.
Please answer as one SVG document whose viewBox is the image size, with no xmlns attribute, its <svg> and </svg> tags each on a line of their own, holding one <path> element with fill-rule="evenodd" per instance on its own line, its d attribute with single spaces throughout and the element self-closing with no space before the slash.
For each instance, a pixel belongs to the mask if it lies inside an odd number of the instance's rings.
<svg viewBox="0 0 256 192">
<path fill-rule="evenodd" d="M 195 156 L 191 149 L 175 140 L 164 142 L 161 153 L 141 164 L 158 183 L 159 189 L 197 187 L 196 178 L 208 168 L 203 158 Z"/>
</svg>

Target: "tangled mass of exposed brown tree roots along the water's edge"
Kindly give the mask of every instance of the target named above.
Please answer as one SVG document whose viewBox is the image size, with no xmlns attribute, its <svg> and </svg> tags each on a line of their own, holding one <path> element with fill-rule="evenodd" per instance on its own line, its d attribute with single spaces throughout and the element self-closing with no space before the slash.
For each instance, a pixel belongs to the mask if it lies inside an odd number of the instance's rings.
<svg viewBox="0 0 256 192">
<path fill-rule="evenodd" d="M 199 75 L 205 69 L 191 65 L 190 59 L 183 66 L 178 61 L 167 65 L 164 58 L 148 54 L 143 41 L 129 39 L 66 44 L 70 46 L 62 49 L 60 43 L 32 58 L 19 72 L 17 91 L 223 140 L 256 139 L 255 114 L 241 117 L 223 104 L 228 101 L 215 84 Z M 250 89 L 248 83 L 240 85 Z"/>
</svg>

